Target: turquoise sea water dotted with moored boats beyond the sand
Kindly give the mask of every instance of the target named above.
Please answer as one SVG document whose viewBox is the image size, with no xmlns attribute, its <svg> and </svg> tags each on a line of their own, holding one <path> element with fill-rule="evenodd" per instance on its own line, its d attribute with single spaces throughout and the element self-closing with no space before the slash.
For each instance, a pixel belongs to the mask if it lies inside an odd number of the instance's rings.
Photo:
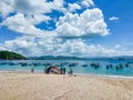
<svg viewBox="0 0 133 100">
<path fill-rule="evenodd" d="M 20 63 L 27 66 L 22 67 Z M 44 72 L 49 63 L 59 69 L 64 67 L 66 72 L 71 66 L 74 73 L 133 77 L 133 60 L 0 60 L 0 70 L 30 72 L 34 68 L 35 72 Z M 92 63 L 99 63 L 99 67 L 92 67 Z M 108 67 L 109 64 L 112 67 Z"/>
</svg>

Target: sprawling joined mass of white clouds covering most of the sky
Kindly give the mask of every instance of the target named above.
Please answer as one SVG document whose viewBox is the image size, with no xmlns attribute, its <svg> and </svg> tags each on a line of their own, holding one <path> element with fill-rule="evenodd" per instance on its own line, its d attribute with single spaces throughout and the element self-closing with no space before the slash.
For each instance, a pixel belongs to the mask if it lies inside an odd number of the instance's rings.
<svg viewBox="0 0 133 100">
<path fill-rule="evenodd" d="M 109 34 L 102 11 L 99 8 L 89 9 L 91 6 L 94 6 L 92 0 L 70 3 L 69 8 L 64 8 L 64 0 L 53 0 L 50 2 L 47 2 L 47 0 L 1 0 L 0 13 L 6 19 L 3 19 L 0 26 L 22 33 L 22 37 L 6 41 L 0 49 L 18 51 L 24 56 L 61 54 L 93 57 L 121 53 L 121 51 L 106 49 L 101 44 L 88 44 L 84 40 L 80 39 L 82 36 Z M 88 9 L 80 14 L 76 12 L 72 13 L 82 8 Z M 55 21 L 55 29 L 49 31 L 37 28 L 35 24 L 50 20 L 53 21 L 54 18 L 45 14 L 52 12 L 52 10 L 64 13 Z M 16 12 L 16 14 L 8 17 L 10 12 Z M 79 38 L 63 40 L 60 37 Z"/>
</svg>

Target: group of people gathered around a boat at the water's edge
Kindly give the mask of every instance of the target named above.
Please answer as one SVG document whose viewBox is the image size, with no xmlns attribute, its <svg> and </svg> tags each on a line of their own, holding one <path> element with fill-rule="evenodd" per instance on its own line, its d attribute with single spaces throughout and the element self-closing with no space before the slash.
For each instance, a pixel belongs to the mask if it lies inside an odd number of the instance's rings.
<svg viewBox="0 0 133 100">
<path fill-rule="evenodd" d="M 31 72 L 34 72 L 34 67 L 31 68 Z M 43 70 L 44 73 L 58 73 L 58 74 L 65 74 L 66 69 L 64 67 L 61 67 L 60 69 L 58 67 L 45 67 Z M 73 70 L 70 67 L 70 71 L 68 72 L 69 74 L 73 74 Z"/>
</svg>

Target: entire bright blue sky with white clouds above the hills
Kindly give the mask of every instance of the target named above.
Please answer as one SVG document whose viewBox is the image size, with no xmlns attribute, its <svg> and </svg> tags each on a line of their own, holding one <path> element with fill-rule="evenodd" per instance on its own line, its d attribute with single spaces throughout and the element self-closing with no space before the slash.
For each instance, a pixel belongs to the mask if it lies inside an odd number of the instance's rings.
<svg viewBox="0 0 133 100">
<path fill-rule="evenodd" d="M 0 50 L 27 57 L 133 56 L 133 0 L 0 0 Z"/>
</svg>

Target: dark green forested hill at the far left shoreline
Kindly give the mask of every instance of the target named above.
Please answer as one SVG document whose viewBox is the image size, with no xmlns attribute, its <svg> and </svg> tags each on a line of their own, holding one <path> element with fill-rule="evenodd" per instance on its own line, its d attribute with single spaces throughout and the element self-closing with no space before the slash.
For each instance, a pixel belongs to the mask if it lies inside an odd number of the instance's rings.
<svg viewBox="0 0 133 100">
<path fill-rule="evenodd" d="M 11 51 L 0 51 L 0 60 L 25 60 L 27 58 Z"/>
</svg>

